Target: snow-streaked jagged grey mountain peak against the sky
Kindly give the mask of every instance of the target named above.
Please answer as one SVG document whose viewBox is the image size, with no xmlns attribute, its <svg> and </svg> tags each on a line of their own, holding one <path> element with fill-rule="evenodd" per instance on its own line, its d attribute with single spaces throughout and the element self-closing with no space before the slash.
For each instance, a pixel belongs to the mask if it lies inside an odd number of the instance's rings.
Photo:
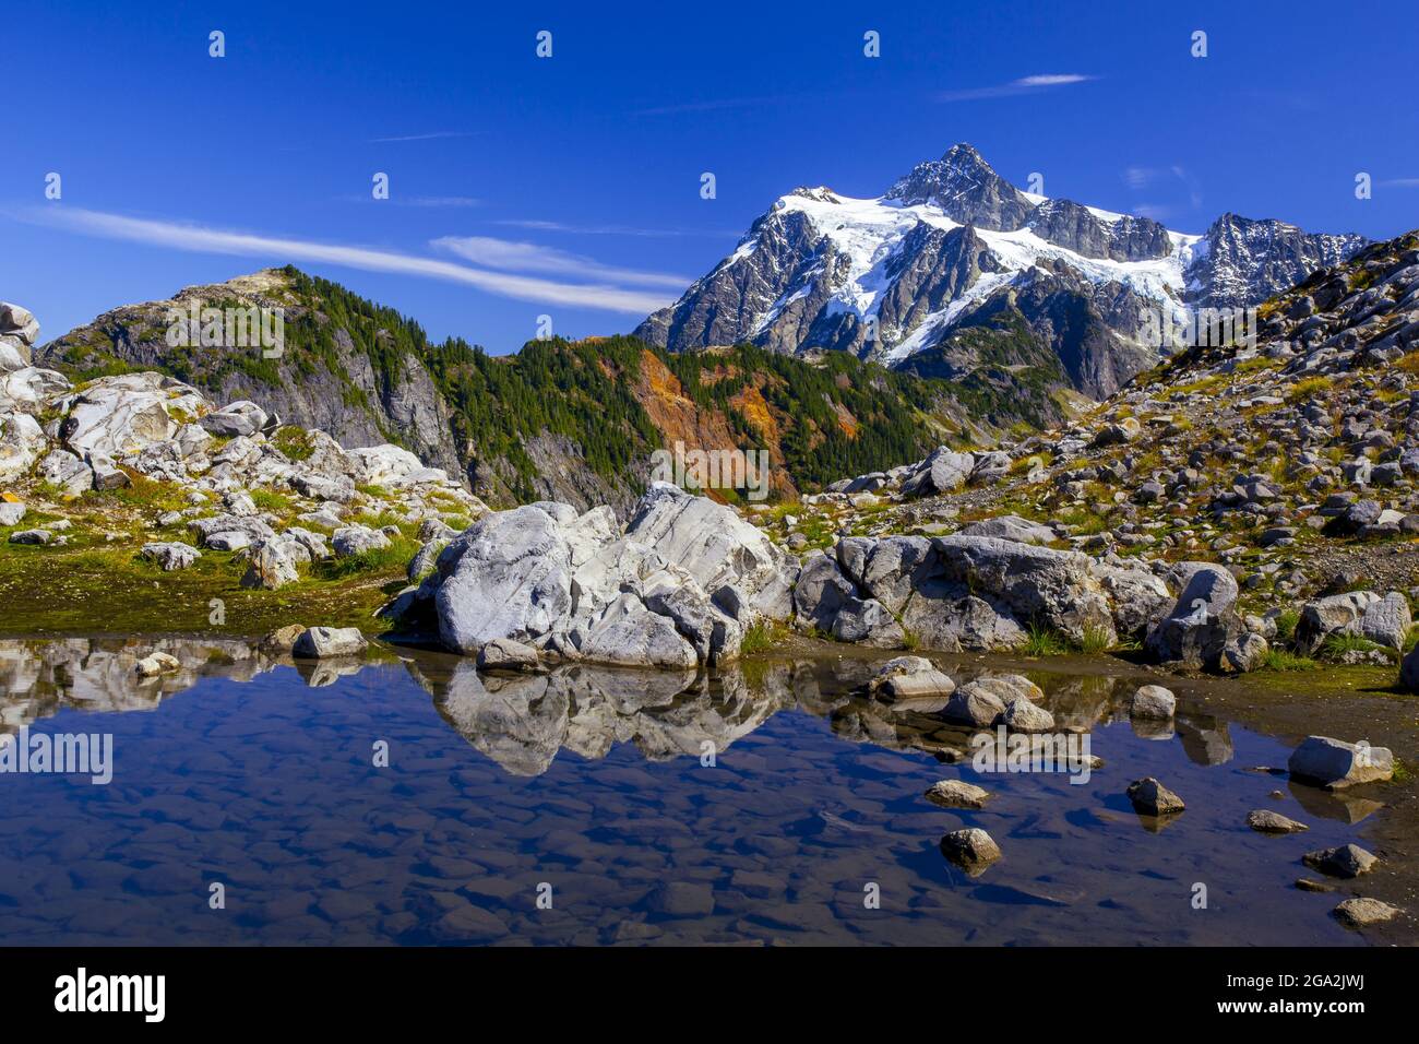
<svg viewBox="0 0 1419 1044">
<path fill-rule="evenodd" d="M 1182 234 L 1022 192 L 961 143 L 877 199 L 780 197 L 636 334 L 671 351 L 752 341 L 904 366 L 925 354 L 944 376 L 1059 359 L 1054 384 L 1104 398 L 1158 361 L 1149 310 L 1182 321 L 1259 304 L 1364 243 L 1235 214 Z"/>
</svg>

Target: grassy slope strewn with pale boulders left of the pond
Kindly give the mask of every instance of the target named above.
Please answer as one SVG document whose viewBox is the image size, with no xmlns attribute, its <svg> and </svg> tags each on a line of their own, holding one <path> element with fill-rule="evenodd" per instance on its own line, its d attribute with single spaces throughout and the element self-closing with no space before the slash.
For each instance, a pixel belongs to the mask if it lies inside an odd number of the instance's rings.
<svg viewBox="0 0 1419 1044">
<path fill-rule="evenodd" d="M 10 304 L 0 314 L 11 324 L 28 315 Z M 33 317 L 20 325 L 33 341 Z M 10 362 L 24 359 L 16 352 Z M 394 445 L 345 449 L 254 402 L 219 406 L 165 374 L 75 385 L 33 365 L 0 372 L 0 489 L 9 565 L 16 548 L 131 547 L 160 572 L 220 557 L 240 570 L 241 588 L 257 589 L 299 584 L 335 562 L 336 572 L 358 568 L 412 545 L 416 528 L 467 524 L 487 510 Z"/>
</svg>

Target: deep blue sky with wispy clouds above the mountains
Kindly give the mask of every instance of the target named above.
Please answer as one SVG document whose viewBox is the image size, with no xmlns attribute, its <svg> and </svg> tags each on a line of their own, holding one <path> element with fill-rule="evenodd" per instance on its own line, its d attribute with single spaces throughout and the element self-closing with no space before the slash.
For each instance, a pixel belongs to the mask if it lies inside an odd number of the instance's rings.
<svg viewBox="0 0 1419 1044">
<path fill-rule="evenodd" d="M 629 331 L 792 187 L 956 141 L 1182 232 L 1419 226 L 1412 3 L 883 7 L 9 3 L 0 298 L 48 339 L 295 261 L 507 352 Z"/>
</svg>

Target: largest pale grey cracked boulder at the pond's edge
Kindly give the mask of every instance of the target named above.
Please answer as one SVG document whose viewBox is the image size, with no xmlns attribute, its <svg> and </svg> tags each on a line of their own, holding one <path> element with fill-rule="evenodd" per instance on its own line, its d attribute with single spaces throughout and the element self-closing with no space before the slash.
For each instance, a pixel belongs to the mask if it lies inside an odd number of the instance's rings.
<svg viewBox="0 0 1419 1044">
<path fill-rule="evenodd" d="M 624 533 L 609 509 L 543 501 L 487 516 L 420 588 L 464 655 L 511 639 L 624 666 L 732 659 L 744 629 L 786 619 L 797 564 L 732 510 L 658 483 Z"/>
</svg>

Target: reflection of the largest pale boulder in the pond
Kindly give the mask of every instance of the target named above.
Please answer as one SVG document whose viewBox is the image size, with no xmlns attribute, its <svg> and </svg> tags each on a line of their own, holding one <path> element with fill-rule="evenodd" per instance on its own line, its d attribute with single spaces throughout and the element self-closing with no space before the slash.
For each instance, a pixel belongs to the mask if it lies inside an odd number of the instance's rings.
<svg viewBox="0 0 1419 1044">
<path fill-rule="evenodd" d="M 739 672 L 711 682 L 694 670 L 573 665 L 507 676 L 463 662 L 444 679 L 416 676 L 458 734 L 515 776 L 545 773 L 563 747 L 602 758 L 633 743 L 651 761 L 719 753 L 789 699 L 746 685 Z"/>
</svg>

